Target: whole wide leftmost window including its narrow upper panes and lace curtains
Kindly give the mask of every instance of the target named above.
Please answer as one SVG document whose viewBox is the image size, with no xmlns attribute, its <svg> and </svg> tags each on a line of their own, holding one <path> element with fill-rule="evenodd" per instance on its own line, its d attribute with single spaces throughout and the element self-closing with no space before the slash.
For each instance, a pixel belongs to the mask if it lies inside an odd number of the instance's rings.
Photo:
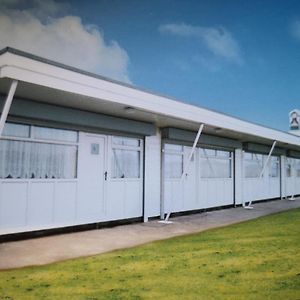
<svg viewBox="0 0 300 300">
<path fill-rule="evenodd" d="M 69 144 L 67 130 L 52 129 L 52 142 L 47 137 L 34 138 L 37 128 L 29 125 L 7 123 L 5 137 L 0 140 L 0 178 L 2 179 L 72 179 L 77 176 L 77 144 Z M 39 129 L 38 129 L 39 130 Z M 54 131 L 52 131 L 54 130 Z M 63 136 L 66 142 L 63 143 Z M 70 131 L 73 138 L 77 132 Z M 19 138 L 19 139 L 18 139 Z M 38 139 L 38 141 L 36 141 Z M 75 140 L 75 139 L 74 139 Z"/>
</svg>

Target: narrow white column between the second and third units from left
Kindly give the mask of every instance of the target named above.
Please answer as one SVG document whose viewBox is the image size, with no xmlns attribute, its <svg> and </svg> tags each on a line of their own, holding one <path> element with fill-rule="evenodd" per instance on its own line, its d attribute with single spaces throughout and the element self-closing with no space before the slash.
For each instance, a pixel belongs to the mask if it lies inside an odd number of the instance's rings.
<svg viewBox="0 0 300 300">
<path fill-rule="evenodd" d="M 235 204 L 244 204 L 244 191 L 243 191 L 243 182 L 244 182 L 244 172 L 243 172 L 243 150 L 235 149 Z"/>
</svg>

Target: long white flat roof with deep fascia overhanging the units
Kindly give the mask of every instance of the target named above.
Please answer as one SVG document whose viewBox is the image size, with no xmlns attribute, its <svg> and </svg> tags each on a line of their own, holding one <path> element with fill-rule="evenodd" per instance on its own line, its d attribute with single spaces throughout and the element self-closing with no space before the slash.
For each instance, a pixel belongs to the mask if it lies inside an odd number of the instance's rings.
<svg viewBox="0 0 300 300">
<path fill-rule="evenodd" d="M 212 128 L 223 130 L 224 133 L 221 134 L 223 136 L 232 131 L 237 133 L 237 138 L 246 134 L 270 141 L 277 140 L 283 144 L 295 145 L 297 148 L 300 147 L 300 137 L 288 132 L 244 121 L 240 118 L 179 101 L 172 97 L 152 93 L 127 83 L 112 80 L 11 47 L 0 50 L 0 78 L 16 79 L 23 82 L 23 91 L 26 91 L 27 84 L 28 86 L 30 85 L 31 89 L 36 85 L 39 88 L 48 88 L 48 91 L 50 88 L 80 95 L 82 97 L 80 100 L 81 106 L 78 108 L 81 109 L 86 108 L 92 111 L 97 111 L 98 109 L 100 111 L 100 108 L 102 108 L 107 109 L 109 113 L 108 106 L 110 105 L 114 106 L 116 111 L 119 109 L 118 114 L 123 114 L 122 109 L 133 107 L 136 109 L 136 115 L 127 115 L 128 118 L 140 118 L 143 121 L 157 123 L 160 127 L 176 126 L 176 120 L 178 120 L 178 124 L 180 123 L 179 127 L 185 127 L 186 125 L 187 129 L 196 130 L 200 123 L 205 123 Z M 36 87 L 37 90 L 39 89 L 38 87 Z M 27 87 L 27 90 L 29 90 L 29 87 Z M 0 92 L 5 91 L 0 89 Z M 65 98 L 68 98 L 66 94 L 64 95 Z M 30 92 L 28 92 L 28 97 L 30 96 Z M 93 105 L 90 104 L 91 99 L 93 99 Z M 40 98 L 34 100 L 59 104 L 56 103 L 57 100 L 50 99 L 43 92 L 41 92 Z M 62 101 L 61 105 L 70 105 L 76 108 L 76 105 L 79 104 L 77 102 L 70 98 L 69 101 Z M 173 119 L 174 122 L 168 124 L 164 122 L 164 118 L 166 120 Z M 190 123 L 189 126 L 188 123 Z"/>
</svg>

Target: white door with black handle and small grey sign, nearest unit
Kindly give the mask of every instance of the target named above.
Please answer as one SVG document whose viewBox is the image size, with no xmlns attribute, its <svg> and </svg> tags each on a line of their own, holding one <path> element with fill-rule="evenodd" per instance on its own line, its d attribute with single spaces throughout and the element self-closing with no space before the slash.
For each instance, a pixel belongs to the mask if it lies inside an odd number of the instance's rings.
<svg viewBox="0 0 300 300">
<path fill-rule="evenodd" d="M 104 181 L 106 138 L 100 135 L 82 134 L 78 161 L 78 219 L 81 222 L 97 222 L 105 217 Z"/>
</svg>

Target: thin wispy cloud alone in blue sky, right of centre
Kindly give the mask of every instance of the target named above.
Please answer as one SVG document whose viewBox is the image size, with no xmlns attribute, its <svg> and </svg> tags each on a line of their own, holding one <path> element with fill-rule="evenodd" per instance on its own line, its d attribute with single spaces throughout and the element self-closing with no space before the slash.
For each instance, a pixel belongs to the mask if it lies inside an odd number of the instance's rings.
<svg viewBox="0 0 300 300">
<path fill-rule="evenodd" d="M 243 59 L 238 42 L 224 27 L 201 27 L 182 24 L 165 24 L 159 27 L 161 33 L 186 38 L 195 38 L 202 42 L 215 56 L 242 64 Z"/>
</svg>

